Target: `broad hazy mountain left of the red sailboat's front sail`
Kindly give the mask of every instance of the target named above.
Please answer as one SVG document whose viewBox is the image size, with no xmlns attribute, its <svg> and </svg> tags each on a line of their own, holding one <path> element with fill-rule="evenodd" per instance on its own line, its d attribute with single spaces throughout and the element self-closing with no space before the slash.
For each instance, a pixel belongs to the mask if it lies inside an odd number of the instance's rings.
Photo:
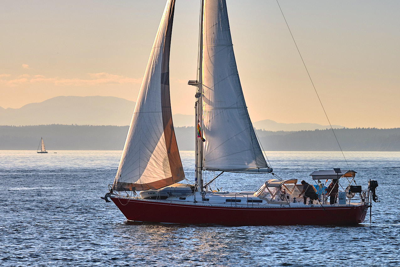
<svg viewBox="0 0 400 267">
<path fill-rule="evenodd" d="M 135 102 L 113 96 L 57 96 L 21 108 L 0 109 L 0 125 L 130 124 Z"/>
</svg>

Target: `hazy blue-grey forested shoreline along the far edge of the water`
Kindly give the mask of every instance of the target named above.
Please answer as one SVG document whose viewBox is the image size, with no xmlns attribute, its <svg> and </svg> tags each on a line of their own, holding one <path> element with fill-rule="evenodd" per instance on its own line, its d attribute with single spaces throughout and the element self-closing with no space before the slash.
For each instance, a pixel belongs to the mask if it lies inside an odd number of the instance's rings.
<svg viewBox="0 0 400 267">
<path fill-rule="evenodd" d="M 51 150 L 122 150 L 128 126 L 48 124 L 0 126 L 0 150 L 35 150 L 40 137 Z M 338 151 L 331 129 L 256 130 L 265 151 Z M 194 150 L 194 127 L 175 127 L 179 150 Z M 400 128 L 335 129 L 343 151 L 400 151 Z"/>
</svg>

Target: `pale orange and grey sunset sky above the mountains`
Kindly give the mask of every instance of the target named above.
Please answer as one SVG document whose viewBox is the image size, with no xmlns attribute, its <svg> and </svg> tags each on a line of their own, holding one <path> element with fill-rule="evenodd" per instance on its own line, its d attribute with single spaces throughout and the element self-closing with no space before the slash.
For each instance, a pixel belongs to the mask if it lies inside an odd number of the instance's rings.
<svg viewBox="0 0 400 267">
<path fill-rule="evenodd" d="M 0 106 L 136 101 L 166 0 L 2 0 Z M 172 113 L 193 114 L 200 1 L 176 0 Z M 279 0 L 332 124 L 400 127 L 400 1 Z M 253 121 L 328 124 L 276 0 L 227 0 Z"/>
</svg>

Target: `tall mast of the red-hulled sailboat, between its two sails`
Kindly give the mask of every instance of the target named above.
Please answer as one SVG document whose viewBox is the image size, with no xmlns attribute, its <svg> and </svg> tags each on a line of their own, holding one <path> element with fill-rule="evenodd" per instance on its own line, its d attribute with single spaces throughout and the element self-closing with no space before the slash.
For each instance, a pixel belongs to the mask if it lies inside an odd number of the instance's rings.
<svg viewBox="0 0 400 267">
<path fill-rule="evenodd" d="M 201 7 L 200 7 L 200 30 L 199 30 L 199 54 L 198 54 L 198 86 L 196 91 L 196 96 L 199 96 L 196 100 L 195 104 L 195 118 L 196 123 L 194 124 L 195 128 L 195 155 L 196 155 L 196 163 L 195 163 L 195 182 L 197 191 L 203 191 L 203 178 L 202 178 L 202 169 L 203 169 L 203 142 L 201 138 L 197 137 L 197 124 L 200 127 L 203 126 L 202 120 L 202 112 L 203 112 L 203 16 L 204 16 L 204 0 L 201 0 Z"/>
</svg>

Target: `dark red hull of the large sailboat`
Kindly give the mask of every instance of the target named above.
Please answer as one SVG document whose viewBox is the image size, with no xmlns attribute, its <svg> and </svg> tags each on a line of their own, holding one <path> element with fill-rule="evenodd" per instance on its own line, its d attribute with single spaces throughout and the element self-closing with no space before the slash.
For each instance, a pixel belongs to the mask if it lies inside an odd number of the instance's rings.
<svg viewBox="0 0 400 267">
<path fill-rule="evenodd" d="M 367 206 L 336 207 L 210 207 L 112 198 L 130 221 L 182 224 L 243 225 L 356 225 Z"/>
</svg>

